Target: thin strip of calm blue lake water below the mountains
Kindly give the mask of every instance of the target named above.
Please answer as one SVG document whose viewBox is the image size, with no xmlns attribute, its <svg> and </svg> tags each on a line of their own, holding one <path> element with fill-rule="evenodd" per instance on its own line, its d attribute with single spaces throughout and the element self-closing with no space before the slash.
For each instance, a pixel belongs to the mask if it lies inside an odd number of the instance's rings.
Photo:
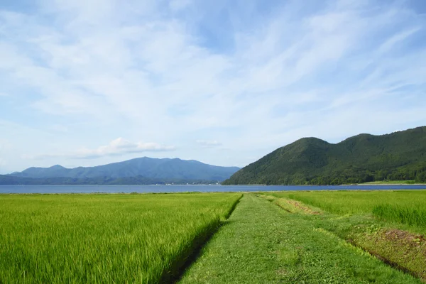
<svg viewBox="0 0 426 284">
<path fill-rule="evenodd" d="M 426 185 L 0 185 L 0 193 L 240 192 L 280 190 L 422 190 Z"/>
</svg>

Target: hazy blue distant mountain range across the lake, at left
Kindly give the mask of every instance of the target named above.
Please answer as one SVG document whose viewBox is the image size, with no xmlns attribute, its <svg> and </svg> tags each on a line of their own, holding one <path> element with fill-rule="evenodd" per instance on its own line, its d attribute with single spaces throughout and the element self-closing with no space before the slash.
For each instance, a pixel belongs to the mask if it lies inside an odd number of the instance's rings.
<svg viewBox="0 0 426 284">
<path fill-rule="evenodd" d="M 207 165 L 197 160 L 180 160 L 178 158 L 155 159 L 136 158 L 120 163 L 99 165 L 96 167 L 64 168 L 54 165 L 50 168 L 28 168 L 21 173 L 11 173 L 15 178 L 68 178 L 68 179 L 130 179 L 144 178 L 148 180 L 214 180 L 229 178 L 239 168 Z"/>
</svg>

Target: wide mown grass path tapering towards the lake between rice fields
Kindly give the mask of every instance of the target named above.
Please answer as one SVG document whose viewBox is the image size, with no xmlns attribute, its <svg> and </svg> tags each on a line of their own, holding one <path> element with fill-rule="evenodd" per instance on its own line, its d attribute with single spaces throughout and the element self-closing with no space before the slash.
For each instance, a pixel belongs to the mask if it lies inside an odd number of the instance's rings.
<svg viewBox="0 0 426 284">
<path fill-rule="evenodd" d="M 337 236 L 246 194 L 180 283 L 420 283 Z"/>
</svg>

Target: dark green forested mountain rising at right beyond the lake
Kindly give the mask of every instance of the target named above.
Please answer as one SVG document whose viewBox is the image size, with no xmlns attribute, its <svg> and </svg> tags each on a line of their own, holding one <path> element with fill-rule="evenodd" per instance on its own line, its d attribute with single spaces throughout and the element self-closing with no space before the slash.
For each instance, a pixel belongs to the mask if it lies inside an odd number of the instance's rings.
<svg viewBox="0 0 426 284">
<path fill-rule="evenodd" d="M 332 144 L 302 138 L 242 168 L 223 185 L 342 185 L 426 181 L 426 126 Z"/>
</svg>

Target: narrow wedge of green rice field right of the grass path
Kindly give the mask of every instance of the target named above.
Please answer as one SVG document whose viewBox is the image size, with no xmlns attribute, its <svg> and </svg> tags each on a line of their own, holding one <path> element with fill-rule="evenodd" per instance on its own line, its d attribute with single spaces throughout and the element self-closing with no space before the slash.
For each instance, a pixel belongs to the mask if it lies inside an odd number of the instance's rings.
<svg viewBox="0 0 426 284">
<path fill-rule="evenodd" d="M 373 214 L 388 222 L 425 229 L 426 190 L 273 192 L 334 214 Z"/>
</svg>

